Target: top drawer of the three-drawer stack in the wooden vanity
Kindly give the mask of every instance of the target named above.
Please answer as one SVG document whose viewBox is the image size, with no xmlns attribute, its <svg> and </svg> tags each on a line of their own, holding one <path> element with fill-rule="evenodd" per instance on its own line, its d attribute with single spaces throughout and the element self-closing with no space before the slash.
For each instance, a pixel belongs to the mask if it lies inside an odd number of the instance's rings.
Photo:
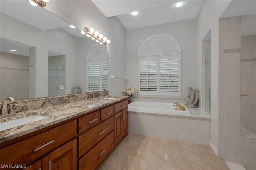
<svg viewBox="0 0 256 170">
<path fill-rule="evenodd" d="M 95 111 L 78 119 L 78 133 L 92 129 L 100 123 L 100 111 Z"/>
</svg>

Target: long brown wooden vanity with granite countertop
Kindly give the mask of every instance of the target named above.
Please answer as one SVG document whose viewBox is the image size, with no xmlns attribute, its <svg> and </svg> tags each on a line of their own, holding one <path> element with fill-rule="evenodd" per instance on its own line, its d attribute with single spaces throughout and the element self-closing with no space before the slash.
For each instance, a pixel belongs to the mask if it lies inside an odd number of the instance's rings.
<svg viewBox="0 0 256 170">
<path fill-rule="evenodd" d="M 42 107 L 16 118 L 30 115 L 48 118 L 1 131 L 1 169 L 93 170 L 128 133 L 128 96 Z"/>
</svg>

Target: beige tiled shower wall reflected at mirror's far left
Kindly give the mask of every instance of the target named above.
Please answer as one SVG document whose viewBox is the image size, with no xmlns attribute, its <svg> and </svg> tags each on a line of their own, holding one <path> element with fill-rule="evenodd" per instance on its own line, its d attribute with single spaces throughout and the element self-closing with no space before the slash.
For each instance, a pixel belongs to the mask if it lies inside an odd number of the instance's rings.
<svg viewBox="0 0 256 170">
<path fill-rule="evenodd" d="M 29 92 L 29 57 L 1 52 L 1 99 L 12 96 L 27 99 Z"/>
</svg>

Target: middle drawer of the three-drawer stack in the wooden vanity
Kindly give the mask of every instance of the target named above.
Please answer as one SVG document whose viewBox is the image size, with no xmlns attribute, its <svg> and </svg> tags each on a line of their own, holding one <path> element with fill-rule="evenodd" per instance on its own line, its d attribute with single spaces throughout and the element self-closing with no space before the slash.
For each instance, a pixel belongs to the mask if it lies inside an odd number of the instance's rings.
<svg viewBox="0 0 256 170">
<path fill-rule="evenodd" d="M 103 123 L 100 123 L 96 127 L 87 131 L 78 137 L 79 143 L 79 152 L 78 157 L 85 154 L 88 150 L 90 150 L 94 145 L 104 139 L 111 131 L 114 129 L 114 117 L 110 117 Z"/>
</svg>

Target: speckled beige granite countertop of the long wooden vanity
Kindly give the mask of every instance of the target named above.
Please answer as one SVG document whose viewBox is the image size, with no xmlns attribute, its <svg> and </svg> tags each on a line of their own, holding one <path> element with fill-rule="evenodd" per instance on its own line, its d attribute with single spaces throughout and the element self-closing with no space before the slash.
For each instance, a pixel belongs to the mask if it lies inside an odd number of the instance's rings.
<svg viewBox="0 0 256 170">
<path fill-rule="evenodd" d="M 116 99 L 105 99 L 108 97 Z M 30 111 L 23 111 L 17 113 L 16 116 L 10 116 L 1 118 L 0 122 L 10 121 L 13 119 L 19 119 L 22 117 L 28 117 L 32 115 L 44 115 L 49 118 L 35 121 L 25 125 L 20 125 L 11 129 L 7 129 L 0 132 L 0 143 L 9 141 L 11 139 L 26 135 L 28 133 L 43 129 L 50 125 L 60 123 L 62 121 L 71 119 L 73 117 L 88 113 L 90 111 L 99 109 L 104 106 L 114 104 L 116 102 L 128 99 L 128 96 L 105 96 L 103 98 L 90 98 L 87 100 L 80 100 L 77 102 L 70 102 L 66 104 L 60 104 L 56 106 L 44 107 L 40 109 L 34 109 Z"/>
</svg>

